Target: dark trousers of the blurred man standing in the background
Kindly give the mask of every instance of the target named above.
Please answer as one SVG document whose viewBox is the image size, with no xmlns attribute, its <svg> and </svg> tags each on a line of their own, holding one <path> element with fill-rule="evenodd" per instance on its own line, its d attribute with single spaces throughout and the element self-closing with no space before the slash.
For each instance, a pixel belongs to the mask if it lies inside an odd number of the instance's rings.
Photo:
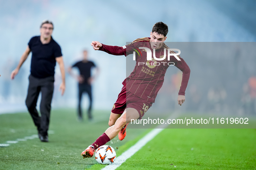
<svg viewBox="0 0 256 170">
<path fill-rule="evenodd" d="M 78 84 L 78 117 L 82 118 L 82 110 L 81 110 L 81 99 L 82 99 L 82 94 L 86 92 L 89 96 L 89 108 L 87 111 L 88 119 L 92 119 L 91 116 L 91 106 L 92 106 L 92 95 L 91 95 L 91 85 L 87 84 Z"/>
</svg>

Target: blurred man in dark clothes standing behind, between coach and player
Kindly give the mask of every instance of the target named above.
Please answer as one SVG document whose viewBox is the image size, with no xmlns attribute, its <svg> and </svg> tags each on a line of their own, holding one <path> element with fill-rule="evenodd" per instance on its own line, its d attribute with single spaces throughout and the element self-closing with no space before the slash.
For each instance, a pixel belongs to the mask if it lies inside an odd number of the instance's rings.
<svg viewBox="0 0 256 170">
<path fill-rule="evenodd" d="M 92 120 L 91 108 L 92 108 L 92 93 L 91 93 L 91 84 L 99 73 L 99 69 L 92 62 L 87 60 L 87 50 L 83 51 L 83 60 L 78 61 L 73 66 L 68 68 L 68 73 L 78 81 L 78 121 L 83 120 L 83 113 L 81 109 L 81 100 L 83 93 L 87 93 L 89 97 L 89 107 L 87 110 L 87 116 L 89 120 Z M 80 75 L 75 75 L 72 72 L 72 68 L 77 67 L 79 69 Z M 96 73 L 94 76 L 91 76 L 91 69 L 96 68 Z"/>
</svg>

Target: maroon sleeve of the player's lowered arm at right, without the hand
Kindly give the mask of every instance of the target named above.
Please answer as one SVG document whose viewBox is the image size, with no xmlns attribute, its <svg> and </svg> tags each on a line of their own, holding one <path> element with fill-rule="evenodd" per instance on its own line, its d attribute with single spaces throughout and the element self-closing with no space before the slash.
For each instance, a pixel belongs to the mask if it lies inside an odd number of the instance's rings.
<svg viewBox="0 0 256 170">
<path fill-rule="evenodd" d="M 185 90 L 188 86 L 188 80 L 190 76 L 190 68 L 188 64 L 185 62 L 185 60 L 183 60 L 183 58 L 179 57 L 179 59 L 180 61 L 177 60 L 175 57 L 172 57 L 172 62 L 175 63 L 174 66 L 176 66 L 178 69 L 182 71 L 182 81 L 178 95 L 185 95 Z"/>
</svg>

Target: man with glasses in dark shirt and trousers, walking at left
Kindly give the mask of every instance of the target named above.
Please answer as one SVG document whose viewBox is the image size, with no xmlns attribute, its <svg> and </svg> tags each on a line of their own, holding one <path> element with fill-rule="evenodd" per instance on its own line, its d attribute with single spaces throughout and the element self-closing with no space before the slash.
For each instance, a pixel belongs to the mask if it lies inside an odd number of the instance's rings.
<svg viewBox="0 0 256 170">
<path fill-rule="evenodd" d="M 25 52 L 19 60 L 16 69 L 11 73 L 11 79 L 18 74 L 20 67 L 25 62 L 29 53 L 32 52 L 29 88 L 26 98 L 26 106 L 37 126 L 39 139 L 48 142 L 48 129 L 50 121 L 52 94 L 54 88 L 54 74 L 56 61 L 62 73 L 62 83 L 60 90 L 62 95 L 65 91 L 65 68 L 61 47 L 52 38 L 53 24 L 49 20 L 42 22 L 40 26 L 40 36 L 32 37 L 26 47 Z M 42 98 L 40 104 L 41 116 L 36 110 L 36 103 L 41 91 Z"/>
</svg>

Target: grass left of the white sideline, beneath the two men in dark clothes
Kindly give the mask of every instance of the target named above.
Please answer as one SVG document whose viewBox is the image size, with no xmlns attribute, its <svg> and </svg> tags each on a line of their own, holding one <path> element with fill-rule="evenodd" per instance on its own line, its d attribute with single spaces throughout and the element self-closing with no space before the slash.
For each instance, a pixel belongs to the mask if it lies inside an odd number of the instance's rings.
<svg viewBox="0 0 256 170">
<path fill-rule="evenodd" d="M 86 169 L 97 164 L 95 158 L 83 159 L 80 155 L 108 127 L 108 111 L 95 111 L 94 122 L 86 119 L 77 121 L 75 110 L 54 110 L 51 113 L 49 143 L 40 142 L 38 138 L 19 141 L 0 148 L 0 170 L 9 169 Z M 137 131 L 129 129 L 130 135 L 122 142 L 118 138 L 108 142 L 113 148 L 120 147 L 127 141 L 135 139 L 146 129 Z M 6 141 L 24 139 L 37 134 L 29 113 L 0 115 L 0 144 Z M 116 149 L 117 154 L 122 152 Z"/>
</svg>

